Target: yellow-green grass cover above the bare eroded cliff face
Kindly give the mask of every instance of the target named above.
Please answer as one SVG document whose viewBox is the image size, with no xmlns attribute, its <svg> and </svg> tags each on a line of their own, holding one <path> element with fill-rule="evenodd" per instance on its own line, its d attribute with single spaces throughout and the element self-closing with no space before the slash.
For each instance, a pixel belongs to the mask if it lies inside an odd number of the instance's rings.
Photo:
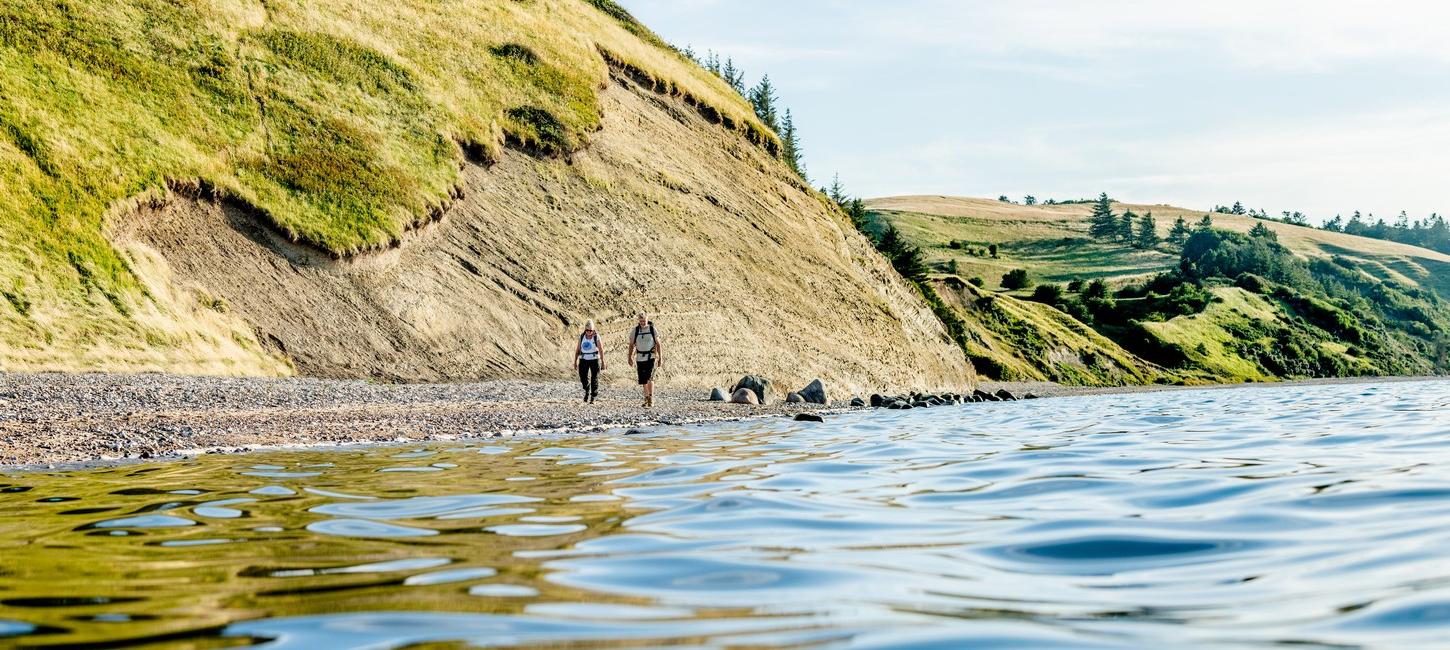
<svg viewBox="0 0 1450 650">
<path fill-rule="evenodd" d="M 332 254 L 389 247 L 448 205 L 465 157 L 586 145 L 602 52 L 776 145 L 738 94 L 608 0 L 0 6 L 0 367 L 36 345 L 109 350 L 81 367 L 204 347 L 152 361 L 283 370 L 225 305 L 148 290 L 107 215 L 181 183 Z M 239 355 L 252 361 L 225 367 Z"/>
</svg>

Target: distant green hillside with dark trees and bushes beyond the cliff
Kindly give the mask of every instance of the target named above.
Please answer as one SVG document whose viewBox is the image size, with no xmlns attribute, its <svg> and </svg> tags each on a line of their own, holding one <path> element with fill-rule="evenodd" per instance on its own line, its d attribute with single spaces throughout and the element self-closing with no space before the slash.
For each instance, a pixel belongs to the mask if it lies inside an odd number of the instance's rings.
<svg viewBox="0 0 1450 650">
<path fill-rule="evenodd" d="M 1241 209 L 1025 203 L 842 200 L 987 377 L 1111 386 L 1450 371 L 1443 252 Z"/>
</svg>

